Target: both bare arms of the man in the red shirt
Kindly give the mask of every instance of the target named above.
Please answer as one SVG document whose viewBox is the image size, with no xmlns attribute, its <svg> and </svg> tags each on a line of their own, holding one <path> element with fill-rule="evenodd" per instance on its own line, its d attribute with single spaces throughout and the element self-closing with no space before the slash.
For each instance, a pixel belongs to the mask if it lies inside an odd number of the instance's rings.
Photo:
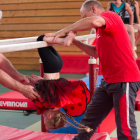
<svg viewBox="0 0 140 140">
<path fill-rule="evenodd" d="M 100 17 L 100 16 L 95 16 L 95 17 L 87 17 L 83 18 L 74 24 L 56 32 L 56 33 L 48 33 L 45 34 L 46 37 L 54 36 L 54 42 L 57 38 L 59 37 L 65 37 L 70 31 L 77 32 L 77 31 L 85 31 L 89 30 L 92 28 L 101 28 L 105 27 L 106 22 L 105 20 Z M 85 53 L 93 56 L 93 57 L 98 57 L 97 51 L 94 46 L 84 44 L 81 41 L 78 41 L 76 39 L 73 40 L 73 44 L 75 44 L 78 48 L 80 48 L 82 51 Z"/>
</svg>

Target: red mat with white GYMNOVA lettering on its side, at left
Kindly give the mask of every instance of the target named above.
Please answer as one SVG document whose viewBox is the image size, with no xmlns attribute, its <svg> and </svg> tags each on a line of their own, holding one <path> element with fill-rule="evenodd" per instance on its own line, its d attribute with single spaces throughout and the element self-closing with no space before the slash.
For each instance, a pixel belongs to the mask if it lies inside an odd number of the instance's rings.
<svg viewBox="0 0 140 140">
<path fill-rule="evenodd" d="M 21 93 L 10 91 L 0 95 L 0 109 L 36 110 L 36 106 Z"/>
</svg>

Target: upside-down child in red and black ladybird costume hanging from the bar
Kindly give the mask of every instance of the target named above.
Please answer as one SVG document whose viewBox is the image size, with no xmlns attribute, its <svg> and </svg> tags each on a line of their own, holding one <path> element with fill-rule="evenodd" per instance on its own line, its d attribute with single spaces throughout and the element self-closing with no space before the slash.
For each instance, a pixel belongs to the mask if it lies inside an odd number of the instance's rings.
<svg viewBox="0 0 140 140">
<path fill-rule="evenodd" d="M 63 44 L 69 46 L 76 33 L 69 33 L 64 38 L 58 38 L 53 42 L 53 37 L 46 38 L 45 35 L 38 37 L 37 41 L 47 41 L 49 44 Z M 90 101 L 90 92 L 86 84 L 79 81 L 68 81 L 60 78 L 60 71 L 63 66 L 63 61 L 58 52 L 52 47 L 39 48 L 38 53 L 43 62 L 44 77 L 40 79 L 35 75 L 32 78 L 36 81 L 34 83 L 34 90 L 41 96 L 42 101 L 34 100 L 38 107 L 38 114 L 43 113 L 44 124 L 46 130 L 57 129 L 63 127 L 66 121 L 66 116 L 72 119 L 80 127 L 73 127 L 77 129 L 84 129 L 87 132 L 92 131 L 87 126 L 77 123 L 72 116 L 80 116 L 84 113 L 87 104 Z M 59 109 L 65 110 L 66 114 Z"/>
</svg>

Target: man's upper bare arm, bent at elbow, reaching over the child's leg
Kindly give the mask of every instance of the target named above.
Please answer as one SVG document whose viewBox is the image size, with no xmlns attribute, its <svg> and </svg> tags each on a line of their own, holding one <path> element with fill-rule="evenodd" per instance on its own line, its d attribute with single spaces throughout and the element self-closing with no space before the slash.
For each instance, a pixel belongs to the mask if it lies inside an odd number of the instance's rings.
<svg viewBox="0 0 140 140">
<path fill-rule="evenodd" d="M 77 32 L 77 31 L 85 31 L 89 30 L 91 28 L 100 28 L 106 25 L 105 20 L 100 16 L 94 16 L 94 17 L 87 17 L 84 19 L 81 19 L 74 24 L 56 32 L 53 33 L 54 36 L 54 42 L 59 37 L 66 36 L 70 31 Z M 51 36 L 50 34 L 45 34 L 47 37 Z"/>
</svg>

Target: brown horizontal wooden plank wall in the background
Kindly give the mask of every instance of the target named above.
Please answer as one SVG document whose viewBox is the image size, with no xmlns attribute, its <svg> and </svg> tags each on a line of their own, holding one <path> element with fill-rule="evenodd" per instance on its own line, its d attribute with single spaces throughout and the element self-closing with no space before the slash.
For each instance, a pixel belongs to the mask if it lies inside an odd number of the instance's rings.
<svg viewBox="0 0 140 140">
<path fill-rule="evenodd" d="M 58 31 L 81 19 L 80 7 L 84 0 L 1 0 L 3 18 L 0 25 L 0 39 L 38 36 Z M 100 0 L 106 10 L 109 1 Z M 78 35 L 89 34 L 79 32 Z M 60 54 L 84 55 L 71 47 L 55 46 Z M 4 53 L 16 69 L 39 70 L 37 50 Z M 140 56 L 140 47 L 138 46 Z"/>
</svg>

